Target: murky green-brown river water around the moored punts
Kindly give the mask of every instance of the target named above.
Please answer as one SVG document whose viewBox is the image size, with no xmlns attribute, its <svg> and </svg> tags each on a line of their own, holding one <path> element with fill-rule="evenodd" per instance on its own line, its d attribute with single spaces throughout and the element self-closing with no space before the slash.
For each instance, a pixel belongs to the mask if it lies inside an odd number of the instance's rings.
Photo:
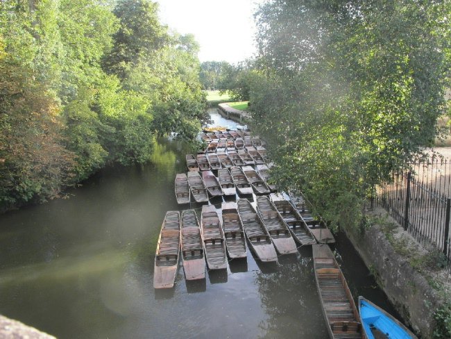
<svg viewBox="0 0 451 339">
<path fill-rule="evenodd" d="M 66 199 L 1 215 L 0 313 L 58 338 L 327 338 L 308 247 L 269 267 L 249 253 L 189 285 L 180 267 L 173 290 L 153 289 L 187 152 L 160 140 L 149 165 L 105 169 Z M 393 312 L 350 242 L 337 240 L 352 294 Z"/>
</svg>

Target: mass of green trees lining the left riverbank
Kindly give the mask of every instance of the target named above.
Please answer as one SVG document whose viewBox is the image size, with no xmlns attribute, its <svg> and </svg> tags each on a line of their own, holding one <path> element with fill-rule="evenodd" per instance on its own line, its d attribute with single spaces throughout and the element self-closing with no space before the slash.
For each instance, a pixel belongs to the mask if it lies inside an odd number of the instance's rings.
<svg viewBox="0 0 451 339">
<path fill-rule="evenodd" d="M 0 1 L 0 210 L 56 197 L 206 119 L 193 35 L 148 0 Z"/>
</svg>

